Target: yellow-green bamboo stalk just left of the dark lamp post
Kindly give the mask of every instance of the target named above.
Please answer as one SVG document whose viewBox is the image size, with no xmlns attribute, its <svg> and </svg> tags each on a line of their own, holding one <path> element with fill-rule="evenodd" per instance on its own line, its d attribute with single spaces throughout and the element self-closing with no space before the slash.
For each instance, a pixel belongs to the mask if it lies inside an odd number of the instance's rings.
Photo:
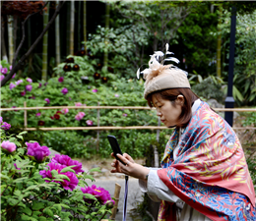
<svg viewBox="0 0 256 221">
<path fill-rule="evenodd" d="M 218 24 L 218 37 L 217 37 L 217 76 L 222 77 L 222 31 L 220 25 L 223 20 L 223 7 L 219 7 L 219 24 Z"/>
</svg>

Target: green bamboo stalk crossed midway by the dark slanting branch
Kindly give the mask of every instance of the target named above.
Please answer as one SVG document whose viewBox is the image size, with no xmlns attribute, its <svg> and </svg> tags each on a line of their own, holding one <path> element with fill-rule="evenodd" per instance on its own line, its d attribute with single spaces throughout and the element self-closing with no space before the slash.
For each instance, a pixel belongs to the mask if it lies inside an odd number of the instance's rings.
<svg viewBox="0 0 256 221">
<path fill-rule="evenodd" d="M 49 6 L 47 5 L 46 11 L 43 12 L 43 28 L 48 24 L 49 20 Z M 47 81 L 47 66 L 48 66 L 48 31 L 45 32 L 42 39 L 42 70 L 41 80 Z"/>
</svg>

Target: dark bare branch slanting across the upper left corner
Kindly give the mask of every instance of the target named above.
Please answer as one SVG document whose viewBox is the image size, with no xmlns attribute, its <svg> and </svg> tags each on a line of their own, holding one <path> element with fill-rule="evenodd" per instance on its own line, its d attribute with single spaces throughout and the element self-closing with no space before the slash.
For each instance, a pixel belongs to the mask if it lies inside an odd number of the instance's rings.
<svg viewBox="0 0 256 221">
<path fill-rule="evenodd" d="M 18 64 L 15 65 L 12 70 L 10 71 L 10 73 L 2 80 L 2 82 L 0 82 L 0 87 L 3 86 L 5 83 L 7 83 L 8 81 L 11 80 L 11 78 L 13 77 L 13 75 L 19 70 L 19 68 L 22 66 L 23 62 L 26 60 L 26 58 L 28 58 L 28 56 L 32 53 L 32 50 L 35 48 L 35 46 L 37 45 L 37 43 L 40 41 L 40 39 L 42 38 L 42 36 L 44 35 L 44 33 L 48 30 L 48 28 L 50 28 L 51 24 L 54 22 L 55 18 L 57 17 L 57 15 L 60 12 L 60 9 L 62 8 L 62 6 L 65 4 L 66 0 L 60 0 L 58 7 L 56 8 L 53 16 L 51 17 L 50 21 L 48 22 L 47 26 L 42 30 L 42 32 L 40 33 L 40 35 L 36 38 L 36 40 L 33 42 L 31 48 L 27 51 L 26 54 L 24 54 L 22 56 L 22 58 L 19 60 Z M 15 61 L 14 61 L 15 62 Z"/>
</svg>

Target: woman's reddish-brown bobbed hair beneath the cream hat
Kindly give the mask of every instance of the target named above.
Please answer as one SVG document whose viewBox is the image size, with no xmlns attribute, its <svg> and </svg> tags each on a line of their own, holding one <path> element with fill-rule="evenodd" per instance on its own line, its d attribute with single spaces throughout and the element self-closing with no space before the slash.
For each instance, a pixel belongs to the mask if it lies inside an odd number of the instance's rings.
<svg viewBox="0 0 256 221">
<path fill-rule="evenodd" d="M 181 107 L 181 114 L 176 125 L 177 128 L 183 128 L 187 126 L 192 117 L 192 105 L 199 98 L 190 88 L 171 88 L 163 89 L 153 92 L 148 95 L 147 100 L 150 107 L 153 107 L 153 94 L 160 96 L 162 99 L 174 101 L 178 95 L 183 95 L 184 104 Z M 175 102 L 171 102 L 175 106 Z"/>
</svg>

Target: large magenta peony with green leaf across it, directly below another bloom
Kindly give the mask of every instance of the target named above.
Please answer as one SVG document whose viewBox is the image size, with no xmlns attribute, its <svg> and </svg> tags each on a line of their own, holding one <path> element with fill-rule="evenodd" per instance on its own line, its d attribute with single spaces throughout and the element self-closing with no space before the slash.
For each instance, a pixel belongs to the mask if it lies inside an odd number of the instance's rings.
<svg viewBox="0 0 256 221">
<path fill-rule="evenodd" d="M 78 186 L 79 180 L 78 180 L 76 174 L 74 174 L 72 172 L 61 173 L 61 170 L 66 167 L 65 165 L 50 162 L 47 164 L 47 166 L 49 167 L 48 170 L 41 170 L 39 172 L 39 174 L 42 176 L 42 178 L 54 179 L 54 177 L 52 177 L 51 171 L 56 170 L 58 172 L 58 174 L 66 175 L 70 181 L 63 180 L 63 182 L 60 182 L 60 181 L 52 181 L 52 182 L 61 184 L 62 187 L 67 191 L 73 191 Z M 50 181 L 46 180 L 45 182 L 49 183 Z"/>
</svg>

